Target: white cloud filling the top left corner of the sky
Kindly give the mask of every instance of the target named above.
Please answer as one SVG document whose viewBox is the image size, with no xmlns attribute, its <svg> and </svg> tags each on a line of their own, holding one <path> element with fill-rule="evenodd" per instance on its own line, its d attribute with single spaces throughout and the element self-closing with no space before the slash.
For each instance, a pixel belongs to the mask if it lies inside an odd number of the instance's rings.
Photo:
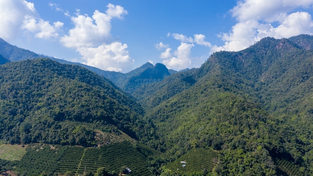
<svg viewBox="0 0 313 176">
<path fill-rule="evenodd" d="M 58 36 L 62 23 L 53 25 L 38 15 L 34 4 L 26 0 L 0 0 L 0 37 L 7 41 L 20 36 L 23 31 L 35 37 L 48 39 Z"/>
</svg>

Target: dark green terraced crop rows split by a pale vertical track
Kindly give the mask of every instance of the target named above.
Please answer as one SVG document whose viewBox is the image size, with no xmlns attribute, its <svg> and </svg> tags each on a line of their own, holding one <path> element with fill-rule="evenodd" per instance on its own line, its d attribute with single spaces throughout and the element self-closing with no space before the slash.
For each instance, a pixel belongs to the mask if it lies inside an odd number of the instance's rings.
<svg viewBox="0 0 313 176">
<path fill-rule="evenodd" d="M 83 148 L 71 146 L 65 150 L 59 161 L 58 173 L 70 171 L 76 175 L 83 171 L 96 172 L 99 167 L 119 172 L 130 168 L 131 175 L 151 175 L 144 155 L 129 141 L 107 144 L 101 147 Z"/>
</svg>

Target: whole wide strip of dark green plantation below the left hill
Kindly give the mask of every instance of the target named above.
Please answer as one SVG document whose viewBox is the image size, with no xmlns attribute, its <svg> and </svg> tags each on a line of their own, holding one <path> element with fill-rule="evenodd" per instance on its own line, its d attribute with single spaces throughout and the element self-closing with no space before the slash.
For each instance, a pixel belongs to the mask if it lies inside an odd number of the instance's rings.
<svg viewBox="0 0 313 176">
<path fill-rule="evenodd" d="M 10 149 L 6 148 L 5 151 Z M 2 158 L 0 161 L 5 168 L 8 161 Z M 93 175 L 99 168 L 105 168 L 108 173 L 113 174 L 122 172 L 126 167 L 131 168 L 131 175 L 152 175 L 145 156 L 128 141 L 101 147 L 30 144 L 14 167 L 15 172 L 23 175 Z"/>
</svg>

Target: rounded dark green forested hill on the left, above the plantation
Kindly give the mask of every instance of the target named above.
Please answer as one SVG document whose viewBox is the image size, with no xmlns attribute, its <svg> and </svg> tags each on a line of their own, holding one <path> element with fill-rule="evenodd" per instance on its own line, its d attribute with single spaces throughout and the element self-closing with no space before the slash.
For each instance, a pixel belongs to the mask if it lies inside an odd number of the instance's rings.
<svg viewBox="0 0 313 176">
<path fill-rule="evenodd" d="M 94 129 L 136 138 L 142 109 L 102 76 L 50 59 L 0 65 L 0 136 L 9 143 L 94 144 Z"/>
</svg>

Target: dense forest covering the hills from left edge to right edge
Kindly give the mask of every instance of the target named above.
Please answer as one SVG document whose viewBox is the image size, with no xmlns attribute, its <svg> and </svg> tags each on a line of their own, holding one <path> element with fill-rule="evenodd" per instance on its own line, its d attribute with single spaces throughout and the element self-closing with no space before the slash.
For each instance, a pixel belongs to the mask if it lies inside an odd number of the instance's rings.
<svg viewBox="0 0 313 176">
<path fill-rule="evenodd" d="M 311 35 L 266 37 L 179 72 L 3 61 L 1 142 L 93 146 L 95 131 L 121 130 L 154 175 L 312 175 L 312 46 Z M 195 151 L 214 161 L 174 169 L 200 162 Z"/>
</svg>

